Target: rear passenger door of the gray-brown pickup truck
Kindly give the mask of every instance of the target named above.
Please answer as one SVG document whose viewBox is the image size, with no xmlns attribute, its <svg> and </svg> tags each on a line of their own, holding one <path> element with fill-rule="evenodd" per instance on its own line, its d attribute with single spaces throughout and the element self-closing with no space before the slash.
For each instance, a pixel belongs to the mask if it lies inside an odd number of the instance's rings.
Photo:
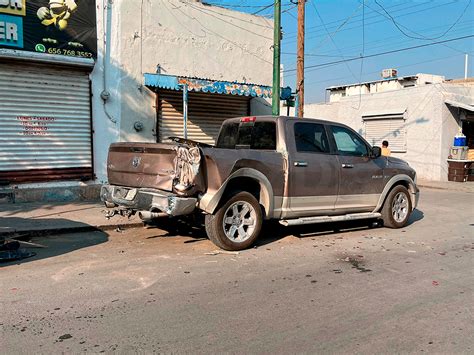
<svg viewBox="0 0 474 355">
<path fill-rule="evenodd" d="M 291 217 L 331 214 L 337 198 L 339 162 L 325 126 L 288 121 L 288 195 Z"/>
</svg>

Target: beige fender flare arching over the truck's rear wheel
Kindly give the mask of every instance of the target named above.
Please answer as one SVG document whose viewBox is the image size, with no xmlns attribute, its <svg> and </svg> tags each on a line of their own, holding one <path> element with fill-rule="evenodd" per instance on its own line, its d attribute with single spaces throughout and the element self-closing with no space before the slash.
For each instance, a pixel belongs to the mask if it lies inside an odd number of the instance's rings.
<svg viewBox="0 0 474 355">
<path fill-rule="evenodd" d="M 233 179 L 239 177 L 247 177 L 256 180 L 260 184 L 260 201 L 259 203 L 265 208 L 265 218 L 272 218 L 274 202 L 273 202 L 273 188 L 268 178 L 258 170 L 252 168 L 241 168 L 234 171 L 222 184 L 222 186 L 215 193 L 206 193 L 199 201 L 199 208 L 207 213 L 214 213 L 219 205 L 219 202 L 224 195 L 224 191 Z"/>
</svg>

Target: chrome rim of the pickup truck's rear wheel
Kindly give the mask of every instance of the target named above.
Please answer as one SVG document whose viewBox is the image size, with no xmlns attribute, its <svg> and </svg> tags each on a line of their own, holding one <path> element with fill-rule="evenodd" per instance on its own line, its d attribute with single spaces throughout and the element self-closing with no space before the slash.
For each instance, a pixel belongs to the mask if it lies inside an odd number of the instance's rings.
<svg viewBox="0 0 474 355">
<path fill-rule="evenodd" d="M 242 243 L 249 239 L 256 225 L 257 213 L 248 202 L 234 202 L 224 213 L 222 227 L 226 237 L 233 242 Z"/>
</svg>

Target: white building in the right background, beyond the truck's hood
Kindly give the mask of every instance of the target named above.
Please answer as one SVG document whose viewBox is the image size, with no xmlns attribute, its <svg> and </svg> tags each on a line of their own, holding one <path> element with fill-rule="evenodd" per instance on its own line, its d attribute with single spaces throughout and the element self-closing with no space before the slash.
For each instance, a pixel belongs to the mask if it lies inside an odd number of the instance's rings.
<svg viewBox="0 0 474 355">
<path fill-rule="evenodd" d="M 446 181 L 453 138 L 463 129 L 474 148 L 474 83 L 417 74 L 327 88 L 329 102 L 305 105 L 305 116 L 347 124 L 418 177 Z"/>
</svg>

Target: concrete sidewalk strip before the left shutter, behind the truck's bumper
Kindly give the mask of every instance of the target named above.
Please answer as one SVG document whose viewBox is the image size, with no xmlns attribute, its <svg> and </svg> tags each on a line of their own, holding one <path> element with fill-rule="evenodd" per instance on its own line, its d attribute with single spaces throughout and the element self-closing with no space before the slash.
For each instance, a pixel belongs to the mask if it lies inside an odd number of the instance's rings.
<svg viewBox="0 0 474 355">
<path fill-rule="evenodd" d="M 142 226 L 137 216 L 105 218 L 100 202 L 50 202 L 0 205 L 0 235 L 45 235 Z"/>
</svg>

